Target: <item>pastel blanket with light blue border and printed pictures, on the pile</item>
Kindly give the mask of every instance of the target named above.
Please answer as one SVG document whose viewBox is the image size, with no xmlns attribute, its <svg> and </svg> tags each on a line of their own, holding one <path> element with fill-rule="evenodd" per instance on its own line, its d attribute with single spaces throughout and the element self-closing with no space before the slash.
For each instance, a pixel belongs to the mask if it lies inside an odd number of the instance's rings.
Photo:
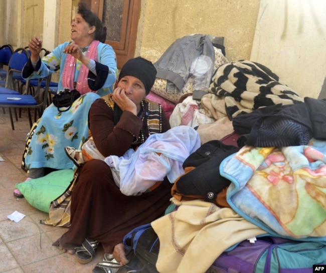
<svg viewBox="0 0 326 273">
<path fill-rule="evenodd" d="M 326 241 L 326 142 L 244 146 L 220 165 L 231 180 L 227 202 L 275 236 Z"/>
</svg>

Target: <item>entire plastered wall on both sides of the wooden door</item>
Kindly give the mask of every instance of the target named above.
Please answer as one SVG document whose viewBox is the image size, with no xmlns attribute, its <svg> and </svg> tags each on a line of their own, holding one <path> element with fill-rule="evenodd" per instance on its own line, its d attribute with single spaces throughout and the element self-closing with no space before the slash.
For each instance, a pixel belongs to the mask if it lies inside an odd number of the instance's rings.
<svg viewBox="0 0 326 273">
<path fill-rule="evenodd" d="M 301 96 L 326 97 L 324 0 L 138 0 L 135 56 L 156 61 L 178 38 L 223 36 L 229 61 L 255 60 Z M 70 39 L 78 0 L 1 0 L 0 45 L 25 47 L 43 35 L 52 50 Z M 313 87 L 311 87 L 313 85 Z M 310 88 L 309 88 L 310 87 Z"/>
</svg>

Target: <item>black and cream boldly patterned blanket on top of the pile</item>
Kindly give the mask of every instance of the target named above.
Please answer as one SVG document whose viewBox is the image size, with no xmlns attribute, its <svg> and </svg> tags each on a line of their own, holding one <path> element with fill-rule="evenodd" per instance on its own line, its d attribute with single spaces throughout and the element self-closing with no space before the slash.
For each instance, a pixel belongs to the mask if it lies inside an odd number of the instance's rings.
<svg viewBox="0 0 326 273">
<path fill-rule="evenodd" d="M 225 98 L 230 119 L 259 107 L 303 102 L 303 98 L 280 83 L 269 68 L 247 60 L 222 64 L 212 77 L 209 93 Z"/>
</svg>

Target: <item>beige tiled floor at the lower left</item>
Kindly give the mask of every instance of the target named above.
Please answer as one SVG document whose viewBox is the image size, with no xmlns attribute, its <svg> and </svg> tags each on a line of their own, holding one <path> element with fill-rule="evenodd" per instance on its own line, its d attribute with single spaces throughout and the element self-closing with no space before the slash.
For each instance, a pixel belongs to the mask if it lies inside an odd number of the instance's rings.
<svg viewBox="0 0 326 273">
<path fill-rule="evenodd" d="M 0 162 L 0 272 L 92 272 L 103 258 L 101 247 L 92 262 L 80 264 L 75 255 L 62 253 L 52 246 L 67 228 L 39 224 L 38 220 L 47 218 L 47 214 L 32 207 L 25 199 L 13 196 L 16 183 L 27 177 L 21 169 L 21 160 L 29 130 L 26 111 L 15 121 L 13 131 L 8 110 L 3 114 L 0 109 L 0 156 L 5 159 Z M 9 220 L 7 215 L 14 211 L 26 217 L 18 223 Z"/>
</svg>

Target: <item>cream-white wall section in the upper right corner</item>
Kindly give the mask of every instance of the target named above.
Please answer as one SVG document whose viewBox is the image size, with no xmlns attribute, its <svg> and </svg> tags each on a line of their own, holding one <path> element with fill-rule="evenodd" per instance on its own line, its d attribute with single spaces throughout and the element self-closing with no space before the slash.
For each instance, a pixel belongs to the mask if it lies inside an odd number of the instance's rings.
<svg viewBox="0 0 326 273">
<path fill-rule="evenodd" d="M 260 6 L 250 59 L 301 97 L 326 98 L 326 1 L 261 0 Z"/>
</svg>

